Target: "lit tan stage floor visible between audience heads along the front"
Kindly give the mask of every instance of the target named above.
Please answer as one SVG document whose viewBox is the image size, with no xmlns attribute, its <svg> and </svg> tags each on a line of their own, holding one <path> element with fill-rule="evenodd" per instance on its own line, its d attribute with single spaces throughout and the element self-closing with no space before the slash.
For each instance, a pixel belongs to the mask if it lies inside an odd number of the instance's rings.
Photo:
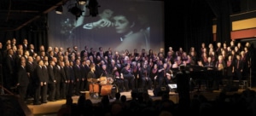
<svg viewBox="0 0 256 116">
<path fill-rule="evenodd" d="M 256 88 L 251 88 L 251 90 L 256 90 Z M 234 92 L 227 92 L 228 94 L 232 95 L 234 93 L 241 93 L 243 90 L 239 89 Z M 213 91 L 207 91 L 207 90 L 193 90 L 190 92 L 190 96 L 194 96 L 196 94 L 201 94 L 203 96 L 206 96 L 209 101 L 214 100 L 221 90 L 213 90 Z M 121 96 L 125 95 L 127 97 L 127 100 L 131 99 L 131 92 L 121 92 Z M 148 95 L 152 96 L 151 98 L 153 100 L 160 100 L 160 96 L 154 96 L 153 90 L 148 90 Z M 173 102 L 178 102 L 178 95 L 175 92 L 169 93 L 169 98 Z M 79 96 L 73 96 L 73 103 L 77 103 L 79 99 Z M 91 102 L 94 104 L 101 102 L 101 98 L 90 98 Z M 113 102 L 114 99 L 110 99 L 110 102 Z M 32 114 L 35 116 L 55 116 L 55 113 L 60 109 L 61 105 L 65 104 L 66 100 L 56 101 L 56 102 L 47 102 L 41 105 L 32 105 L 28 104 L 27 107 L 31 110 Z"/>
</svg>

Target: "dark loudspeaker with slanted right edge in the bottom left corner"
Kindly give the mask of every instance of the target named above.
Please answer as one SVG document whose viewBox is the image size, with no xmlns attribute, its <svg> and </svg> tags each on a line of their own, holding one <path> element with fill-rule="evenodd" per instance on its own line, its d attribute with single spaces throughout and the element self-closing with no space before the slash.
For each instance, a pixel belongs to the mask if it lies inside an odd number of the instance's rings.
<svg viewBox="0 0 256 116">
<path fill-rule="evenodd" d="M 20 96 L 3 95 L 0 96 L 0 114 L 3 116 L 32 116 L 31 110 L 20 100 Z"/>
</svg>

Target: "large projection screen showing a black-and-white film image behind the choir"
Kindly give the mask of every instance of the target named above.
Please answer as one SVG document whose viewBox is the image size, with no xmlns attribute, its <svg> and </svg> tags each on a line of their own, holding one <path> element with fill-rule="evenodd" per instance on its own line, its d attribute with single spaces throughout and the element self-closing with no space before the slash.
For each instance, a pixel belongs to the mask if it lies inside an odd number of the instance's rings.
<svg viewBox="0 0 256 116">
<path fill-rule="evenodd" d="M 49 46 L 133 51 L 164 48 L 164 3 L 161 1 L 97 0 L 98 14 L 90 15 L 88 3 L 77 4 L 84 12 L 70 12 L 76 1 L 63 4 L 62 14 L 49 12 Z M 89 1 L 90 3 L 90 1 Z M 92 11 L 92 10 L 91 10 Z"/>
</svg>

